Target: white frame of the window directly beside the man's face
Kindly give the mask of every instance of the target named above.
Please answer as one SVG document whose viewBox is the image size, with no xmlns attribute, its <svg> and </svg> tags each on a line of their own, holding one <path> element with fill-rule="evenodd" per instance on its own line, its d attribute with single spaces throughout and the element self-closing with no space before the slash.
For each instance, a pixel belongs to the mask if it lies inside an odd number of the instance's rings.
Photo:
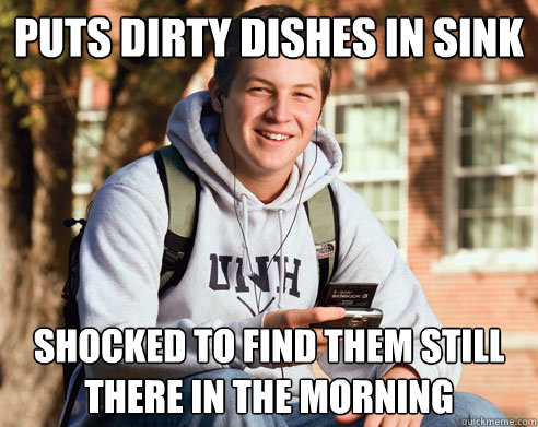
<svg viewBox="0 0 538 427">
<path fill-rule="evenodd" d="M 343 182 L 373 182 L 384 180 L 398 180 L 400 181 L 400 216 L 399 216 L 399 251 L 404 259 L 407 259 L 408 251 L 408 222 L 409 222 L 409 139 L 408 139 L 408 122 L 409 122 L 409 95 L 401 88 L 369 88 L 366 91 L 350 93 L 332 93 L 327 97 L 324 108 L 323 122 L 324 127 L 331 133 L 336 134 L 336 107 L 338 105 L 350 105 L 360 103 L 375 102 L 399 102 L 400 103 L 400 119 L 401 119 L 401 132 L 400 132 L 400 153 L 402 156 L 402 165 L 405 168 L 401 170 L 379 171 L 373 174 L 362 173 L 344 173 L 341 171 L 338 177 Z"/>
</svg>

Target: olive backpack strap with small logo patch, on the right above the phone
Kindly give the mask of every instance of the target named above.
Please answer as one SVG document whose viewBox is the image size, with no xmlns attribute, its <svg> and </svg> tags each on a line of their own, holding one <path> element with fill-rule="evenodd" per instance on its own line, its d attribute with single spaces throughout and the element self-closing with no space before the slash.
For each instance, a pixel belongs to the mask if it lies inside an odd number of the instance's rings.
<svg viewBox="0 0 538 427">
<path fill-rule="evenodd" d="M 304 202 L 314 244 L 316 245 L 317 271 L 319 275 L 317 300 L 330 282 L 338 265 L 340 223 L 338 204 L 330 185 L 324 187 Z"/>
</svg>

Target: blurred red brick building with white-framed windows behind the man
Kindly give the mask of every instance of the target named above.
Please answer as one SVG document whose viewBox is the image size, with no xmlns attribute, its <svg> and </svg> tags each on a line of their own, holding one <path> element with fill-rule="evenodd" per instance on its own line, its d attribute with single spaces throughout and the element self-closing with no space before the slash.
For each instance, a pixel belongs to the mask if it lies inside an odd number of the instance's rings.
<svg viewBox="0 0 538 427">
<path fill-rule="evenodd" d="M 501 329 L 506 363 L 466 365 L 458 390 L 537 418 L 538 2 L 354 0 L 324 13 L 377 23 L 373 58 L 335 60 L 323 120 L 344 152 L 342 179 L 369 201 L 446 327 Z M 385 56 L 389 15 L 424 16 L 424 58 Z M 525 57 L 437 58 L 437 16 L 523 16 Z M 81 135 L 98 140 L 107 93 L 86 76 Z"/>
</svg>

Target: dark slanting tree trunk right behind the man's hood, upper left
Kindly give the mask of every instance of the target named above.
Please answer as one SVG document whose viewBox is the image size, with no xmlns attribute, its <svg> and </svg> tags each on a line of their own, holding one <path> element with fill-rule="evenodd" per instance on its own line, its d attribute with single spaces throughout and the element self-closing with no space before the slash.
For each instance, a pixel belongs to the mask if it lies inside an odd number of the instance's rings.
<svg viewBox="0 0 538 427">
<path fill-rule="evenodd" d="M 244 0 L 229 2 L 177 2 L 142 0 L 129 8 L 131 16 L 221 16 L 234 15 Z M 190 34 L 185 36 L 190 45 Z M 213 41 L 204 32 L 203 51 L 211 52 Z M 188 50 L 188 49 L 187 49 Z M 116 51 L 117 55 L 117 51 Z M 140 157 L 142 146 L 159 146 L 164 140 L 173 106 L 182 97 L 191 76 L 206 58 L 117 58 L 117 72 L 110 82 L 112 100 L 105 134 L 93 173 L 93 187 L 119 167 Z"/>
</svg>

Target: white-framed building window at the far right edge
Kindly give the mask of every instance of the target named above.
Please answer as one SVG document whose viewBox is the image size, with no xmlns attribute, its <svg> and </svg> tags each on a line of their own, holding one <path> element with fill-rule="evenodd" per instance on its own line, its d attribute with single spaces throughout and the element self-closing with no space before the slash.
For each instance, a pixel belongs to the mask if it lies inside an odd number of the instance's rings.
<svg viewBox="0 0 538 427">
<path fill-rule="evenodd" d="M 536 252 L 538 85 L 459 87 L 447 97 L 446 252 Z"/>
</svg>

